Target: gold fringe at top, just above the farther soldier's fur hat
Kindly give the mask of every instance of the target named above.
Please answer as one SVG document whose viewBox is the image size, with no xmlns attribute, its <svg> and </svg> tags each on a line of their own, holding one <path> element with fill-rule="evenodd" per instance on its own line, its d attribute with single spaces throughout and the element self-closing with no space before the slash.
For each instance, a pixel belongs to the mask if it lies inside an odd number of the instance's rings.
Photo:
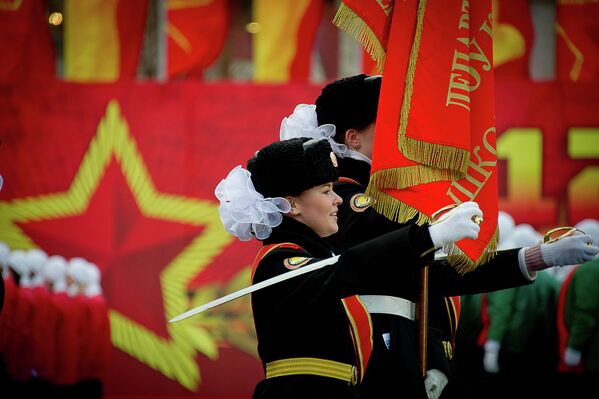
<svg viewBox="0 0 599 399">
<path fill-rule="evenodd" d="M 370 26 L 354 10 L 341 2 L 337 13 L 333 17 L 333 24 L 360 43 L 372 60 L 376 62 L 376 68 L 379 73 L 383 72 L 386 55 L 385 48 Z"/>
</svg>

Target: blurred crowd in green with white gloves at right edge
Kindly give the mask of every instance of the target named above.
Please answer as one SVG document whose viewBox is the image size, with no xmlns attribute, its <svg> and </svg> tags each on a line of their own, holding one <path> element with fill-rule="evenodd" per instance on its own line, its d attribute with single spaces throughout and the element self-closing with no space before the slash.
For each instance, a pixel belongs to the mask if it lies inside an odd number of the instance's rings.
<svg viewBox="0 0 599 399">
<path fill-rule="evenodd" d="M 499 249 L 543 235 L 499 212 Z M 575 226 L 599 241 L 599 221 Z M 484 266 L 482 266 L 484 267 Z M 599 377 L 599 258 L 537 273 L 531 285 L 461 298 L 455 361 L 475 397 L 578 397 Z"/>
</svg>

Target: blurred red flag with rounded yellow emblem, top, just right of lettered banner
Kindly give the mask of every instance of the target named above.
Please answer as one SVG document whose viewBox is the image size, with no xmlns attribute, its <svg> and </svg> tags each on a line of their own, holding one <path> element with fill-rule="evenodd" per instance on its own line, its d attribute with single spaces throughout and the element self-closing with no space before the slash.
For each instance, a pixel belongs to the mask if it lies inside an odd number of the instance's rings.
<svg viewBox="0 0 599 399">
<path fill-rule="evenodd" d="M 495 76 L 529 78 L 534 27 L 528 0 L 493 1 Z"/>
</svg>

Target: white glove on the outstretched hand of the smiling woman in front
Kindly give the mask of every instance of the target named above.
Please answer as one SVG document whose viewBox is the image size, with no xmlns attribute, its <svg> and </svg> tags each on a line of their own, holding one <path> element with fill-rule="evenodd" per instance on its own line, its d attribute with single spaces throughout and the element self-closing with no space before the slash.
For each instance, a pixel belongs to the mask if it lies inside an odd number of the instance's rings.
<svg viewBox="0 0 599 399">
<path fill-rule="evenodd" d="M 460 241 L 464 238 L 475 240 L 480 232 L 480 226 L 472 219 L 483 217 L 478 204 L 473 201 L 461 203 L 441 217 L 441 221 L 428 227 L 428 231 L 436 248 Z"/>
</svg>

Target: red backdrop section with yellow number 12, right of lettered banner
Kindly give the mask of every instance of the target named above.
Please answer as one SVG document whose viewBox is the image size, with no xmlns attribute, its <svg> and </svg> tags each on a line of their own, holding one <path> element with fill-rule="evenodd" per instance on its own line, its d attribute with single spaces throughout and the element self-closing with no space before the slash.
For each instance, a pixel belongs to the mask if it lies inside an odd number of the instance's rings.
<svg viewBox="0 0 599 399">
<path fill-rule="evenodd" d="M 540 232 L 599 220 L 599 84 L 495 87 L 499 209 Z"/>
</svg>

